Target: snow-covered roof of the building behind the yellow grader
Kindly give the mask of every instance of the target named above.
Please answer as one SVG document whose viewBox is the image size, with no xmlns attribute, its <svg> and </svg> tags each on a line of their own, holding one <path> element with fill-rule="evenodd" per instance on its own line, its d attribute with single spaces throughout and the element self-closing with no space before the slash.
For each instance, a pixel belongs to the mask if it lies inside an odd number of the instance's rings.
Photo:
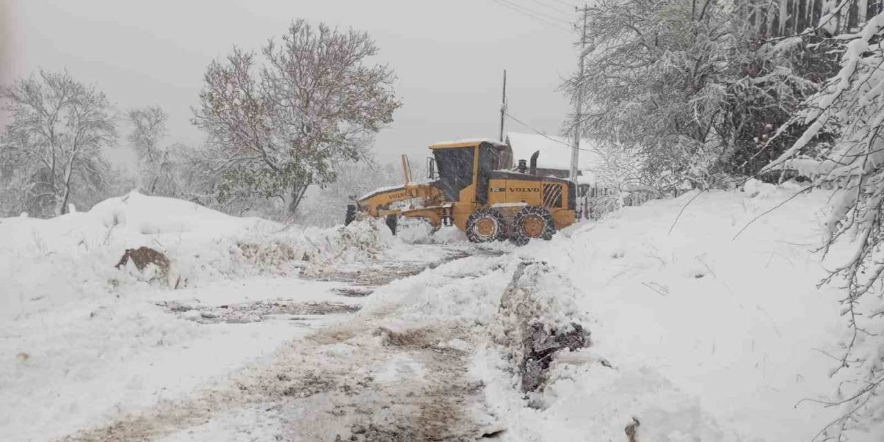
<svg viewBox="0 0 884 442">
<path fill-rule="evenodd" d="M 571 140 L 537 133 L 509 132 L 507 133 L 507 141 L 513 148 L 513 159 L 516 163 L 519 160 L 530 159 L 531 154 L 539 150 L 537 167 L 564 171 L 571 169 L 571 145 L 573 143 Z M 590 151 L 595 147 L 596 143 L 591 140 L 580 141 L 580 149 L 583 150 L 578 155 L 578 170 L 589 171 L 598 166 L 598 156 L 595 152 Z"/>
</svg>

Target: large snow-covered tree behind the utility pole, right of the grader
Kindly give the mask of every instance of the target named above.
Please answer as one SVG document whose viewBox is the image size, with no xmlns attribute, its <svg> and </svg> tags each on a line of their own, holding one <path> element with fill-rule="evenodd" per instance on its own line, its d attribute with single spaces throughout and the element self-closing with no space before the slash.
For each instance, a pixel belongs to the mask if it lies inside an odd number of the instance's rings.
<svg viewBox="0 0 884 442">
<path fill-rule="evenodd" d="M 766 137 L 833 65 L 812 35 L 767 39 L 757 17 L 770 7 L 597 2 L 588 13 L 586 71 L 563 85 L 589 103 L 583 134 L 639 149 L 648 173 L 695 187 L 758 171 L 785 149 Z"/>
</svg>

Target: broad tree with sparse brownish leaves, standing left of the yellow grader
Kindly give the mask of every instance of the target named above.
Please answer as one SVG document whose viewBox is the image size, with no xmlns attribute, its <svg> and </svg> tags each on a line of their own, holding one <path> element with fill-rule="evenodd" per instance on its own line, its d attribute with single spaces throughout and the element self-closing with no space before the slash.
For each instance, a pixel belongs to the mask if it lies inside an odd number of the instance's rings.
<svg viewBox="0 0 884 442">
<path fill-rule="evenodd" d="M 207 69 L 193 123 L 217 150 L 219 198 L 263 194 L 293 215 L 311 185 L 359 161 L 400 102 L 393 73 L 371 65 L 369 34 L 297 20 L 255 54 L 234 48 Z"/>
</svg>

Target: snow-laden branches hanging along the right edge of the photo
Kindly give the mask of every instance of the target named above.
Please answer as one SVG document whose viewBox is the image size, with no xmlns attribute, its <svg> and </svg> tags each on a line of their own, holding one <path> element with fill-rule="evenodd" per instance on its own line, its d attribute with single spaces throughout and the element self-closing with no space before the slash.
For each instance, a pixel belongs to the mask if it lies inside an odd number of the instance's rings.
<svg viewBox="0 0 884 442">
<path fill-rule="evenodd" d="M 852 370 L 855 376 L 840 398 L 828 402 L 843 409 L 842 418 L 824 433 L 831 440 L 844 440 L 844 431 L 863 425 L 884 407 L 882 37 L 884 13 L 869 19 L 857 33 L 832 37 L 842 50 L 840 71 L 774 134 L 773 140 L 792 126 L 804 127 L 789 149 L 767 166 L 768 170 L 802 167 L 817 177 L 818 186 L 839 189 L 832 200 L 823 250 L 828 253 L 836 245 L 849 245 L 850 250 L 843 256 L 832 256 L 838 263 L 823 282 L 845 288 L 842 314 L 850 326 L 850 336 L 834 370 Z M 836 133 L 834 145 L 820 149 L 819 138 L 826 131 Z"/>
</svg>

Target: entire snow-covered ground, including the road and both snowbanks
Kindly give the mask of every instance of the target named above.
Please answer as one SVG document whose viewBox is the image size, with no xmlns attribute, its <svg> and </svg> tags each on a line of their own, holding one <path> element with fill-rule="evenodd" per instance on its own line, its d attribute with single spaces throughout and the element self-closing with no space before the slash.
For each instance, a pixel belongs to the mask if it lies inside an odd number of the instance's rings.
<svg viewBox="0 0 884 442">
<path fill-rule="evenodd" d="M 693 194 L 648 202 L 524 248 L 140 194 L 5 218 L 0 440 L 625 441 L 628 426 L 643 442 L 812 440 L 841 411 L 801 402 L 843 380 L 827 355 L 841 293 L 817 288 L 812 252 L 829 195 L 734 239 L 796 187 L 745 190 L 701 194 L 681 217 Z M 168 255 L 171 277 L 114 268 L 140 246 Z M 527 301 L 501 303 L 513 290 Z M 528 394 L 512 359 L 526 315 L 591 332 Z M 884 423 L 850 436 L 884 440 Z"/>
</svg>

